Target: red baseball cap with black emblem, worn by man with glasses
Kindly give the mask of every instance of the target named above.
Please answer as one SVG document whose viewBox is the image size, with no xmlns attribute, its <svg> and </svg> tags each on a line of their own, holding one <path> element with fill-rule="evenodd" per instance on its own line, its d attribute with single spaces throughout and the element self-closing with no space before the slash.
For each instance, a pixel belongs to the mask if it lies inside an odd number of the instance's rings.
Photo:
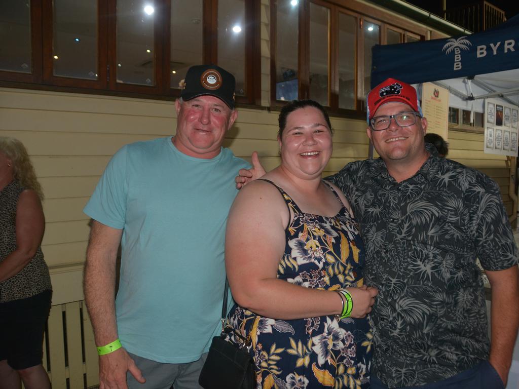
<svg viewBox="0 0 519 389">
<path fill-rule="evenodd" d="M 367 123 L 370 124 L 370 119 L 375 115 L 378 107 L 390 103 L 404 103 L 422 115 L 420 102 L 416 95 L 416 89 L 406 82 L 399 81 L 394 78 L 388 78 L 384 82 L 380 82 L 370 93 L 367 94 Z"/>
</svg>

